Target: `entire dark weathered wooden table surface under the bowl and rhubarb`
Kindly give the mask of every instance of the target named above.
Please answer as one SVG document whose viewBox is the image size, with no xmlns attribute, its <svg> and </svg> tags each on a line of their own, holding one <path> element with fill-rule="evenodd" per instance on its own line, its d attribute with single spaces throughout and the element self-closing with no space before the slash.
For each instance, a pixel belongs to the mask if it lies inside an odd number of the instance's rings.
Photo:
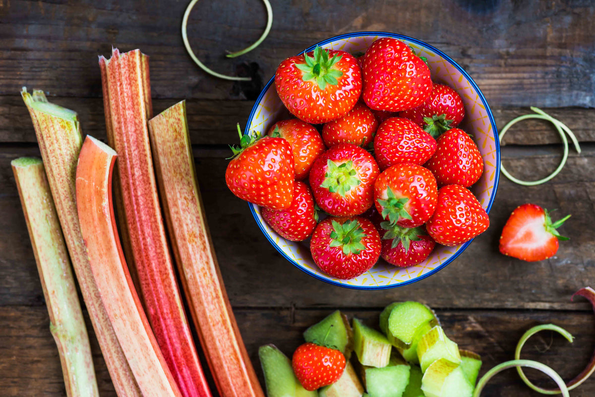
<svg viewBox="0 0 595 397">
<path fill-rule="evenodd" d="M 578 373 L 595 346 L 595 322 L 577 289 L 595 286 L 595 8 L 589 0 L 274 1 L 270 36 L 255 51 L 226 59 L 261 34 L 259 0 L 198 2 L 189 37 L 214 70 L 250 75 L 250 83 L 212 78 L 190 60 L 180 37 L 187 1 L 0 0 L 0 395 L 64 396 L 57 348 L 49 332 L 32 248 L 10 161 L 39 155 L 21 86 L 43 89 L 53 102 L 79 112 L 83 133 L 105 138 L 97 56 L 140 48 L 151 56 L 155 114 L 187 100 L 198 178 L 212 238 L 234 313 L 259 367 L 259 345 L 287 354 L 300 334 L 340 308 L 370 324 L 392 301 L 418 300 L 436 308 L 462 348 L 484 357 L 482 373 L 510 360 L 522 333 L 555 323 L 575 337 L 548 332 L 527 344 L 525 358 L 543 361 L 565 379 Z M 536 187 L 500 178 L 486 233 L 437 275 L 403 288 L 354 291 L 327 285 L 295 269 L 265 240 L 248 206 L 226 188 L 227 144 L 236 142 L 264 83 L 287 56 L 327 37 L 384 30 L 417 37 L 461 64 L 503 125 L 538 106 L 565 122 L 581 141 L 558 177 Z M 522 178 L 549 174 L 559 162 L 559 137 L 542 122 L 511 131 L 503 163 Z M 555 257 L 524 263 L 502 256 L 497 241 L 511 211 L 526 202 L 573 216 L 560 229 L 571 238 Z M 87 319 L 88 322 L 88 319 Z M 115 396 L 89 327 L 99 389 Z M 260 370 L 257 368 L 259 376 Z M 538 374 L 531 373 L 538 378 Z M 262 379 L 262 377 L 261 377 Z M 571 393 L 595 395 L 595 379 Z M 537 396 L 515 371 L 496 377 L 484 396 Z"/>
</svg>

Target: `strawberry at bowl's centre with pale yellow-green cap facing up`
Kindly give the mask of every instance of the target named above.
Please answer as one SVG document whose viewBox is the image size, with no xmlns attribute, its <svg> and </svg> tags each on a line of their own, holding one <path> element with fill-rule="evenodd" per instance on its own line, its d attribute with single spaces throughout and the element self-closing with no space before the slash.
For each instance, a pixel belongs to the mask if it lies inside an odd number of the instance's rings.
<svg viewBox="0 0 595 397">
<path fill-rule="evenodd" d="M 318 206 L 334 216 L 364 213 L 374 200 L 379 173 L 371 154 L 351 143 L 341 143 L 319 156 L 310 169 L 310 186 Z"/>
</svg>

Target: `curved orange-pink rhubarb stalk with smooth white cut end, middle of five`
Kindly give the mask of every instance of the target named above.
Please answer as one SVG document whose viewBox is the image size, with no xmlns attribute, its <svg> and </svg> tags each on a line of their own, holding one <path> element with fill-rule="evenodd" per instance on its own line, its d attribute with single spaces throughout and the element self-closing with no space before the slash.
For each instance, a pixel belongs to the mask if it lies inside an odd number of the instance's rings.
<svg viewBox="0 0 595 397">
<path fill-rule="evenodd" d="M 116 153 L 87 136 L 76 170 L 80 229 L 101 300 L 143 397 L 181 396 L 146 319 L 124 260 L 112 206 Z"/>
</svg>

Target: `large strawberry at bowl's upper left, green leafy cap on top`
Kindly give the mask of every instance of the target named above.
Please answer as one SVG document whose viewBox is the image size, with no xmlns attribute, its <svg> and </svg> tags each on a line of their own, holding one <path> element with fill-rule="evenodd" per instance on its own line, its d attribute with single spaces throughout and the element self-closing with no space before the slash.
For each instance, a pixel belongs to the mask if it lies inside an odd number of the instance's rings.
<svg viewBox="0 0 595 397">
<path fill-rule="evenodd" d="M 362 92 L 362 74 L 358 60 L 349 52 L 317 47 L 281 62 L 275 87 L 294 116 L 320 124 L 353 108 Z"/>
</svg>

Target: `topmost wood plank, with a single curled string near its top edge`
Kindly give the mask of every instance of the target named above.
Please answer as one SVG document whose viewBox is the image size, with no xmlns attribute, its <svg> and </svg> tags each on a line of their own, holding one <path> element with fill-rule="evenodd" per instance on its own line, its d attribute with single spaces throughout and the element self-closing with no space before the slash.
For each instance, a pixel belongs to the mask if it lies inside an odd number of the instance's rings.
<svg viewBox="0 0 595 397">
<path fill-rule="evenodd" d="M 475 78 L 493 106 L 595 105 L 595 26 L 590 2 L 443 2 L 396 5 L 358 0 L 275 2 L 270 36 L 234 60 L 226 49 L 252 43 L 265 25 L 258 0 L 199 2 L 189 37 L 214 70 L 253 74 L 251 84 L 230 83 L 199 70 L 187 56 L 180 22 L 187 2 L 2 2 L 0 94 L 24 84 L 51 94 L 99 97 L 96 56 L 111 46 L 151 56 L 156 97 L 253 99 L 279 62 L 319 40 L 362 30 L 397 31 L 440 48 Z M 338 11 L 340 10 L 340 12 Z M 332 17 L 330 16 L 332 15 Z M 422 22 L 420 22 L 422 21 Z"/>
</svg>

